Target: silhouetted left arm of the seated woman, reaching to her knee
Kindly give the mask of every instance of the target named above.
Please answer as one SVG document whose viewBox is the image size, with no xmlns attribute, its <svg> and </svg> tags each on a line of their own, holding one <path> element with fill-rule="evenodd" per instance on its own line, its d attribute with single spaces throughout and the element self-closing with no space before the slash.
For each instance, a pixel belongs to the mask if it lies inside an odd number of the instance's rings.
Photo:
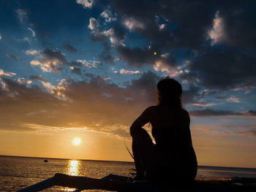
<svg viewBox="0 0 256 192">
<path fill-rule="evenodd" d="M 129 133 L 131 136 L 138 128 L 142 128 L 146 123 L 150 122 L 153 108 L 154 106 L 146 108 L 140 117 L 138 117 L 135 122 L 132 123 L 132 126 L 129 128 Z"/>
</svg>

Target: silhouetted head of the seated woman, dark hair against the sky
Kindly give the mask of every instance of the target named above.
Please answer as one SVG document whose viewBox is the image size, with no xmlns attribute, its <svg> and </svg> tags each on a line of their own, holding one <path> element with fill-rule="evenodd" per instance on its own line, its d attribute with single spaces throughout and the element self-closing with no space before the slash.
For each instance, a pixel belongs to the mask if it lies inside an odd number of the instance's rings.
<svg viewBox="0 0 256 192">
<path fill-rule="evenodd" d="M 157 83 L 157 105 L 172 107 L 173 109 L 181 109 L 181 84 L 172 79 L 165 78 Z"/>
</svg>

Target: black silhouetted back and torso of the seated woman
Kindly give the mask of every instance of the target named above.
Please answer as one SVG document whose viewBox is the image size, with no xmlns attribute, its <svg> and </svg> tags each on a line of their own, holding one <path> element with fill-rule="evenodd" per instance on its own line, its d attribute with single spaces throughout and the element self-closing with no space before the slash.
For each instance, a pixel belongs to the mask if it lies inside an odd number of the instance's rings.
<svg viewBox="0 0 256 192">
<path fill-rule="evenodd" d="M 189 129 L 189 114 L 186 110 L 170 110 L 167 107 L 152 107 L 152 136 L 155 139 L 159 172 L 176 172 L 184 177 L 188 172 L 188 180 L 196 175 L 197 159 L 192 147 Z M 163 174 L 163 173 L 161 173 Z"/>
</svg>

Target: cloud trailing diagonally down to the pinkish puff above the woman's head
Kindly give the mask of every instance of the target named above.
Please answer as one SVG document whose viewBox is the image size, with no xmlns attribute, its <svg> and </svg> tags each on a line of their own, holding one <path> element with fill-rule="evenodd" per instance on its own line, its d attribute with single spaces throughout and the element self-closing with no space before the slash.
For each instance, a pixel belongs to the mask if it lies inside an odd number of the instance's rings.
<svg viewBox="0 0 256 192">
<path fill-rule="evenodd" d="M 89 28 L 91 28 L 91 39 L 95 42 L 102 42 L 105 49 L 99 55 L 103 62 L 113 64 L 114 58 L 110 55 L 111 47 L 106 42 L 107 37 L 110 39 L 111 44 L 116 48 L 119 56 L 129 66 L 137 66 L 138 68 L 143 65 L 154 66 L 156 71 L 168 72 L 175 76 L 173 69 L 177 67 L 176 58 L 170 53 L 163 53 L 155 55 L 154 48 L 130 48 L 124 45 L 126 34 L 124 30 L 116 26 L 105 30 L 99 31 L 99 22 L 95 18 L 90 18 Z"/>
</svg>

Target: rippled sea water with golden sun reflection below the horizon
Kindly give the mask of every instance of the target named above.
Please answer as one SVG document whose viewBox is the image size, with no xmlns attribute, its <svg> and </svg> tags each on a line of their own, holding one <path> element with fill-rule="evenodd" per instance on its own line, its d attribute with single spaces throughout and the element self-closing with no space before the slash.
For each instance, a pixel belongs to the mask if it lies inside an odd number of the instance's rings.
<svg viewBox="0 0 256 192">
<path fill-rule="evenodd" d="M 53 177 L 55 173 L 101 178 L 110 173 L 130 176 L 130 169 L 134 169 L 134 164 L 129 162 L 50 158 L 48 163 L 45 163 L 44 158 L 0 156 L 0 191 L 17 191 Z M 197 177 L 256 177 L 256 169 L 199 166 Z M 53 187 L 45 191 L 75 189 Z"/>
</svg>

